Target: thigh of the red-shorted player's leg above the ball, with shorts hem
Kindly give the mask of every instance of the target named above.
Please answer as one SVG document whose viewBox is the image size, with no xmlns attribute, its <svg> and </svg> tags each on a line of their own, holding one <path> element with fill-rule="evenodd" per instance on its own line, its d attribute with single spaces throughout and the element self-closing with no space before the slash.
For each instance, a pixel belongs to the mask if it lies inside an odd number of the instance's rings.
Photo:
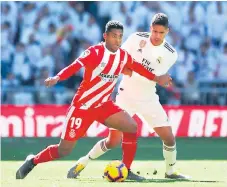
<svg viewBox="0 0 227 187">
<path fill-rule="evenodd" d="M 137 131 L 136 122 L 132 117 L 113 102 L 107 102 L 97 109 L 99 118 L 97 121 L 109 128 L 114 128 L 122 132 L 135 133 Z"/>
</svg>

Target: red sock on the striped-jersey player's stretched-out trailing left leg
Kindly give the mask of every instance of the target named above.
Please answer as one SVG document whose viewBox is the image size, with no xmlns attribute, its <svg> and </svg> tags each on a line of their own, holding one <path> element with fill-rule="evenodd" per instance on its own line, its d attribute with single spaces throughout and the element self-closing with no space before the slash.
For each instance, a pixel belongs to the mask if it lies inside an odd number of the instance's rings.
<svg viewBox="0 0 227 187">
<path fill-rule="evenodd" d="M 49 145 L 46 149 L 42 150 L 37 155 L 35 155 L 33 162 L 34 164 L 40 164 L 43 162 L 55 160 L 57 158 L 59 158 L 58 144 Z"/>
</svg>

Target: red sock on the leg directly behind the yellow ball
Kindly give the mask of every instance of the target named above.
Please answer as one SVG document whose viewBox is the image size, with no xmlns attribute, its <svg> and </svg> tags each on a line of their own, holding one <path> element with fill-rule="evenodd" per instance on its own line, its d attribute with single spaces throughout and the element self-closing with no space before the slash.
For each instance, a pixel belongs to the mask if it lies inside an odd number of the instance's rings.
<svg viewBox="0 0 227 187">
<path fill-rule="evenodd" d="M 122 162 L 130 169 L 132 161 L 135 158 L 137 149 L 137 134 L 123 133 L 122 140 Z"/>
</svg>

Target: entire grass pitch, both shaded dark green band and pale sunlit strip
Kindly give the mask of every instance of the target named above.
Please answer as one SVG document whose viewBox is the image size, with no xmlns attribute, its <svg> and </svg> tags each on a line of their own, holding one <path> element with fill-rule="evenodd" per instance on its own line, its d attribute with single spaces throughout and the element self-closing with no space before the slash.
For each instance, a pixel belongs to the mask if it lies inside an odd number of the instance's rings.
<svg viewBox="0 0 227 187">
<path fill-rule="evenodd" d="M 110 183 L 102 178 L 108 162 L 121 159 L 121 149 L 116 148 L 98 160 L 91 161 L 78 179 L 66 179 L 75 161 L 86 154 L 98 138 L 84 138 L 73 153 L 62 159 L 40 164 L 24 179 L 16 180 L 15 174 L 29 153 L 37 153 L 47 145 L 58 143 L 58 138 L 2 138 L 1 186 L 2 187 L 227 187 L 227 139 L 226 138 L 178 138 L 176 168 L 192 176 L 191 181 L 175 181 L 164 178 L 165 163 L 162 143 L 158 138 L 141 138 L 138 141 L 136 159 L 132 169 L 147 178 L 142 183 L 125 181 Z M 157 174 L 154 175 L 154 170 Z"/>
</svg>

